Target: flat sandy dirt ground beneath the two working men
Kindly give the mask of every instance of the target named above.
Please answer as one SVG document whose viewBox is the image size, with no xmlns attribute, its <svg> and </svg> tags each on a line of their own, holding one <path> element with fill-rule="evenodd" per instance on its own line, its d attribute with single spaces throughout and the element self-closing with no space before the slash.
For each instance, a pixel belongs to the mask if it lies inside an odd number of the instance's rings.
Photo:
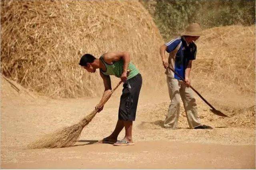
<svg viewBox="0 0 256 170">
<path fill-rule="evenodd" d="M 1 90 L 13 89 L 4 84 Z M 141 94 L 133 126 L 134 146 L 97 143 L 114 129 L 118 118 L 118 91 L 82 131 L 76 146 L 27 149 L 29 142 L 44 133 L 78 122 L 100 100 L 52 100 L 32 96 L 26 92 L 1 93 L 1 168 L 255 168 L 255 121 L 248 126 L 237 124 L 235 116 L 213 115 L 198 98 L 201 121 L 214 129 L 188 129 L 184 110 L 178 128 L 165 129 L 162 125 L 170 101 L 164 89 L 157 95 Z M 248 98 L 240 104 L 247 108 L 253 101 Z M 234 114 L 232 112 L 234 110 L 225 111 L 228 115 Z M 123 136 L 124 131 L 119 139 Z"/>
</svg>

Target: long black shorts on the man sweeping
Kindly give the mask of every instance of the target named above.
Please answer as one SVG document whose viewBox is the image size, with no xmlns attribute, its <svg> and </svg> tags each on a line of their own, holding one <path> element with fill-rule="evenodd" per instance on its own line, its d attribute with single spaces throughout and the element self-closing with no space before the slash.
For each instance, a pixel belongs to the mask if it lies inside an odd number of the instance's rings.
<svg viewBox="0 0 256 170">
<path fill-rule="evenodd" d="M 130 78 L 124 82 L 124 89 L 120 98 L 118 120 L 135 120 L 141 85 L 142 77 L 140 74 L 137 74 L 133 78 Z"/>
</svg>

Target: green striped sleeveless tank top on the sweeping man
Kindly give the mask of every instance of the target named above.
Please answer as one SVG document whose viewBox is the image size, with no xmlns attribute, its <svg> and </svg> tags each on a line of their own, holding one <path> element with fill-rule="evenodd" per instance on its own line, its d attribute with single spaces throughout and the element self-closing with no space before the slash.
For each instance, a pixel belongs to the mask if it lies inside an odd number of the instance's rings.
<svg viewBox="0 0 256 170">
<path fill-rule="evenodd" d="M 103 60 L 103 57 L 100 57 L 100 60 L 102 61 L 102 63 L 106 66 L 106 71 L 103 71 L 102 69 L 100 69 L 100 72 L 102 72 L 102 74 L 109 76 L 109 75 L 114 75 L 116 77 L 121 77 L 121 74 L 123 72 L 123 60 L 119 60 L 119 61 L 114 61 L 113 64 L 108 64 Z M 127 80 L 130 78 L 133 78 L 134 76 L 136 76 L 137 74 L 140 73 L 140 71 L 138 70 L 138 68 L 136 68 L 136 66 L 134 64 L 132 64 L 131 62 L 128 65 L 128 69 L 130 70 L 130 73 L 127 77 Z"/>
</svg>

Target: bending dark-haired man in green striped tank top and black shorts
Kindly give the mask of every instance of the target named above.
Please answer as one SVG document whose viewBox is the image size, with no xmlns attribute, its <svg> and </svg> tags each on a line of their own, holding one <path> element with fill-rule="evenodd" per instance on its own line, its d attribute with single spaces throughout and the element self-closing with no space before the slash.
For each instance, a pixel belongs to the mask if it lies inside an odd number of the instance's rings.
<svg viewBox="0 0 256 170">
<path fill-rule="evenodd" d="M 134 145 L 132 141 L 132 122 L 136 117 L 142 77 L 136 66 L 130 62 L 129 53 L 105 53 L 99 59 L 96 59 L 90 54 L 85 54 L 81 57 L 79 64 L 88 72 L 95 72 L 96 69 L 100 69 L 100 76 L 103 79 L 105 87 L 102 99 L 112 89 L 110 75 L 121 78 L 122 82 L 124 82 L 116 128 L 111 135 L 100 140 L 99 143 L 111 143 L 115 146 Z M 127 75 L 128 69 L 130 72 Z M 103 106 L 97 105 L 96 108 L 101 111 Z M 117 141 L 117 137 L 123 128 L 125 128 L 125 137 Z"/>
</svg>

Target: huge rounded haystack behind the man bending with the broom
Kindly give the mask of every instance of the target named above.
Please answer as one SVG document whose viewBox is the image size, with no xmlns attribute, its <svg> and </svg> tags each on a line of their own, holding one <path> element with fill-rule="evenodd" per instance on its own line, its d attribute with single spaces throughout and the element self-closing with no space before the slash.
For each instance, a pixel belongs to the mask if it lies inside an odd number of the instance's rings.
<svg viewBox="0 0 256 170">
<path fill-rule="evenodd" d="M 148 86 L 159 79 L 152 72 L 163 72 L 158 54 L 162 43 L 136 0 L 1 1 L 2 74 L 52 98 L 102 94 L 99 75 L 78 66 L 84 53 L 100 57 L 129 51 Z"/>
</svg>

